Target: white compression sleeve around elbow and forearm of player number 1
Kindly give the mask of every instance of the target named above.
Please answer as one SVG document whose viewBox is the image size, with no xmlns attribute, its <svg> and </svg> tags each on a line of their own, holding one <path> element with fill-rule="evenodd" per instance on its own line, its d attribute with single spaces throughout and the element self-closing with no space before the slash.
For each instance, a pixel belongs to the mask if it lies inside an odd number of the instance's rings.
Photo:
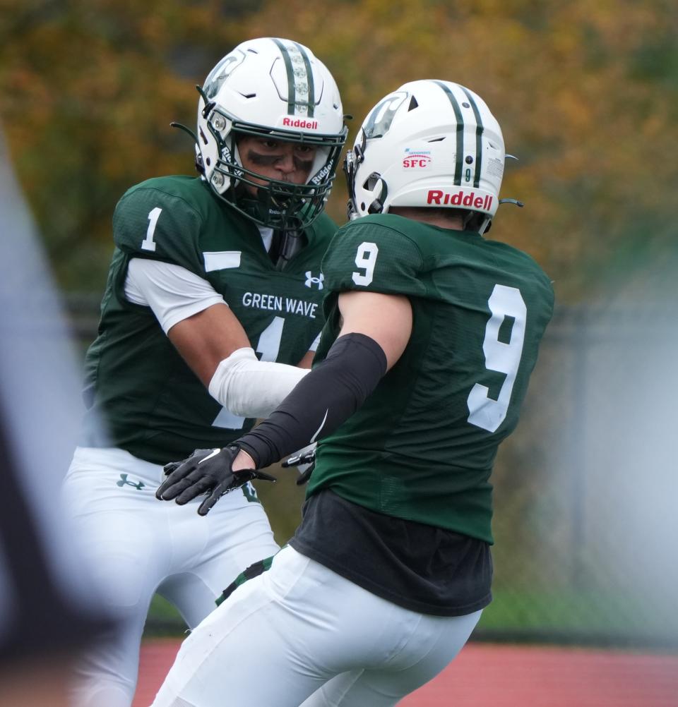
<svg viewBox="0 0 678 707">
<path fill-rule="evenodd" d="M 308 368 L 259 361 L 253 349 L 237 349 L 219 363 L 209 381 L 209 395 L 234 415 L 268 417 Z"/>
</svg>

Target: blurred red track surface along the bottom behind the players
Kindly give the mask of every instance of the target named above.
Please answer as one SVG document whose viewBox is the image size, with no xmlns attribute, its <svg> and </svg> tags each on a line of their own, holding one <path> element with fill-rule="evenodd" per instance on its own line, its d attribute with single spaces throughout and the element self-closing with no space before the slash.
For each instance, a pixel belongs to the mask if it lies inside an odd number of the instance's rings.
<svg viewBox="0 0 678 707">
<path fill-rule="evenodd" d="M 174 639 L 144 643 L 132 707 L 150 705 L 177 649 Z M 447 670 L 400 704 L 678 707 L 678 655 L 469 643 Z"/>
</svg>

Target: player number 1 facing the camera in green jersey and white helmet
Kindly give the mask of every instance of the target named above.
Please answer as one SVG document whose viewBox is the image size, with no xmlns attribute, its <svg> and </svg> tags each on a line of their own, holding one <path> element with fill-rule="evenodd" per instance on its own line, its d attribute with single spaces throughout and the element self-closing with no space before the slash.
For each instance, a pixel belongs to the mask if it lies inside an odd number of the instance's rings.
<svg viewBox="0 0 678 707">
<path fill-rule="evenodd" d="M 161 464 L 229 443 L 277 407 L 308 373 L 324 321 L 320 264 L 336 227 L 323 209 L 347 132 L 333 77 L 310 49 L 265 37 L 227 54 L 199 92 L 197 134 L 185 128 L 199 176 L 120 199 L 86 356 L 65 489 L 127 627 L 82 666 L 88 707 L 132 702 L 154 592 L 193 627 L 225 579 L 277 551 L 249 484 L 214 520 L 154 492 Z"/>
</svg>

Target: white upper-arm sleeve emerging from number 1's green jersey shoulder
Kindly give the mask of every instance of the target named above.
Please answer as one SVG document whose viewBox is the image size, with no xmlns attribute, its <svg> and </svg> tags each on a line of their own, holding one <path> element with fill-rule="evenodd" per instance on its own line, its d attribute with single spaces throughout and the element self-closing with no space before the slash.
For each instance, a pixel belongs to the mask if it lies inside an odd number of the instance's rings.
<svg viewBox="0 0 678 707">
<path fill-rule="evenodd" d="M 163 332 L 183 319 L 216 304 L 226 304 L 212 285 L 190 270 L 147 258 L 132 258 L 127 268 L 125 296 L 153 310 Z"/>
</svg>

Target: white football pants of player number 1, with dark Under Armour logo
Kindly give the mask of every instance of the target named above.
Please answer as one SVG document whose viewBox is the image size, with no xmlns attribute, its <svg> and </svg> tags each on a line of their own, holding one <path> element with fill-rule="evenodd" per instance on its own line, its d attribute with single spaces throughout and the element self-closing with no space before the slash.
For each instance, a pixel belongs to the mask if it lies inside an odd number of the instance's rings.
<svg viewBox="0 0 678 707">
<path fill-rule="evenodd" d="M 77 667 L 77 707 L 130 706 L 155 592 L 196 626 L 244 568 L 278 550 L 261 504 L 243 491 L 202 517 L 202 497 L 185 506 L 158 501 L 164 478 L 161 466 L 124 450 L 79 448 L 64 481 L 74 544 L 89 556 L 102 595 L 122 620 L 120 636 Z M 255 497 L 251 485 L 247 493 Z"/>
</svg>

